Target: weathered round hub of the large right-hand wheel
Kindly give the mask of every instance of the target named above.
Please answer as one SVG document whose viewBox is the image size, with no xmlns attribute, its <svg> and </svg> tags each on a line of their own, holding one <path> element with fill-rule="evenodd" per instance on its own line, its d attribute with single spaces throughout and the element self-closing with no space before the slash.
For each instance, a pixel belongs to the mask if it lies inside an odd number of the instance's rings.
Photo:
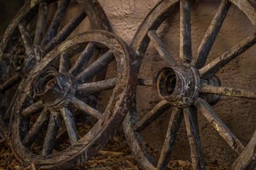
<svg viewBox="0 0 256 170">
<path fill-rule="evenodd" d="M 155 74 L 153 88 L 159 98 L 178 108 L 186 108 L 198 96 L 200 77 L 198 71 L 188 64 L 164 67 Z"/>
</svg>

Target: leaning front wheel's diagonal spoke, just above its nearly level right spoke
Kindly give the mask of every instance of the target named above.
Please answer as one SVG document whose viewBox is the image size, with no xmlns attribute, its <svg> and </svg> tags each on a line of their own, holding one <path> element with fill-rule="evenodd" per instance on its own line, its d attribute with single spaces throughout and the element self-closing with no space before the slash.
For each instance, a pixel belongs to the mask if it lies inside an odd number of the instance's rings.
<svg viewBox="0 0 256 170">
<path fill-rule="evenodd" d="M 90 64 L 87 69 L 85 69 L 83 72 L 80 72 L 80 74 L 78 74 L 75 78 L 82 79 L 85 82 L 90 81 L 90 79 L 95 77 L 95 75 L 98 74 L 104 67 L 106 67 L 107 64 L 112 62 L 112 60 L 114 60 L 114 55 L 112 54 L 112 50 L 108 50 L 98 60 Z"/>
</svg>

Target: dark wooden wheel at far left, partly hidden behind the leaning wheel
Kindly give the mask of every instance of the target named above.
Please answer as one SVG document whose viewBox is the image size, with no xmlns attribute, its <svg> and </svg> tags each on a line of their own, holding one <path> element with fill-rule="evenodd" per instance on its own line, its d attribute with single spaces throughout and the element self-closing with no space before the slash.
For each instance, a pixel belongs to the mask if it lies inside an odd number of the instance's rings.
<svg viewBox="0 0 256 170">
<path fill-rule="evenodd" d="M 70 8 L 80 10 L 65 23 Z M 90 24 L 86 23 L 89 18 Z M 68 20 L 68 18 L 67 18 Z M 18 96 L 18 84 L 50 50 L 63 42 L 81 23 L 92 29 L 108 30 L 107 18 L 97 1 L 26 1 L 4 34 L 0 44 L 0 135 L 8 137 L 11 110 Z"/>
</svg>

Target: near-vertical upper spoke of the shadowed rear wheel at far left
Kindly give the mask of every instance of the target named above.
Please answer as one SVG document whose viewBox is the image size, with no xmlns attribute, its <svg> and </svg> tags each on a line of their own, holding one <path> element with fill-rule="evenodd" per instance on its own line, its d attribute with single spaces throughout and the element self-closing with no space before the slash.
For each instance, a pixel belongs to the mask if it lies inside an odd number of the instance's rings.
<svg viewBox="0 0 256 170">
<path fill-rule="evenodd" d="M 40 45 L 43 40 L 43 36 L 46 33 L 46 18 L 47 18 L 47 4 L 41 2 L 38 10 L 38 20 L 36 23 L 36 33 L 33 41 L 34 45 Z"/>
</svg>

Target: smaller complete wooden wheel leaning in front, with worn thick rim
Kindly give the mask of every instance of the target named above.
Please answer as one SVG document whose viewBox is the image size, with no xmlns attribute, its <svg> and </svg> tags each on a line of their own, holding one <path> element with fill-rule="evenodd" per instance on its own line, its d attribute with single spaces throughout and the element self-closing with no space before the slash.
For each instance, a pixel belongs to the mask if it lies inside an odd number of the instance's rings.
<svg viewBox="0 0 256 170">
<path fill-rule="evenodd" d="M 107 48 L 107 52 L 91 63 L 95 47 Z M 69 69 L 70 59 L 75 55 L 79 56 L 78 60 Z M 117 78 L 94 81 L 96 75 L 114 60 Z M 33 69 L 18 96 L 11 133 L 11 148 L 16 158 L 40 169 L 70 169 L 90 159 L 110 140 L 129 110 L 136 85 L 131 66 L 124 42 L 103 30 L 82 33 L 52 50 Z M 103 112 L 79 98 L 109 89 L 113 89 L 112 95 Z M 90 121 L 95 121 L 82 137 L 78 136 L 75 125 L 76 110 L 91 115 Z M 62 121 L 69 145 L 58 152 L 56 148 L 60 144 L 55 141 L 61 133 Z M 38 147 L 40 154 L 33 152 L 32 147 L 38 139 L 43 141 Z"/>
</svg>

